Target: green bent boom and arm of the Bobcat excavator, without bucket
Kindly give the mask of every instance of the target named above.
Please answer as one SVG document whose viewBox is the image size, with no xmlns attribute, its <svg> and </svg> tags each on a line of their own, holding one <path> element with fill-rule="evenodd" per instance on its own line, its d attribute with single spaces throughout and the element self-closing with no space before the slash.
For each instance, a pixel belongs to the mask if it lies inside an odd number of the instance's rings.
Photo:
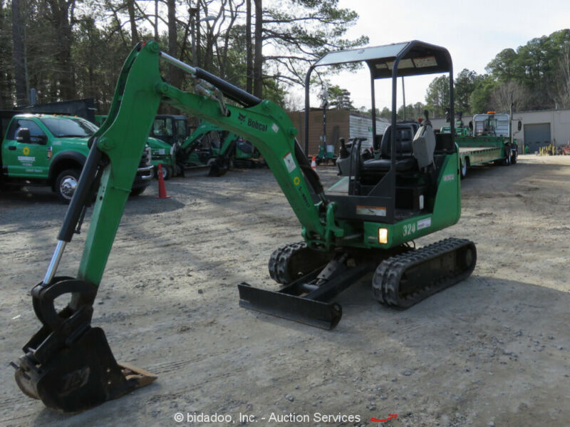
<svg viewBox="0 0 570 427">
<path fill-rule="evenodd" d="M 181 91 L 163 81 L 158 70 L 161 56 L 190 72 L 201 93 Z M 247 108 L 225 104 L 217 88 L 199 80 L 197 75 L 200 74 L 210 77 L 222 86 L 222 90 L 226 89 L 230 98 L 245 103 Z M 100 180 L 79 279 L 93 284 L 100 282 L 129 195 L 136 162 L 161 101 L 250 140 L 274 173 L 303 226 L 306 240 L 316 246 L 330 247 L 333 238 L 342 234 L 333 224 L 328 228 L 336 234 L 327 232 L 327 207 L 324 206 L 322 185 L 302 155 L 295 140 L 297 130 L 284 110 L 227 82 L 215 81 L 214 76 L 180 63 L 160 52 L 157 43 L 149 42 L 135 48 L 125 62 L 109 118 L 93 141 L 109 164 Z M 311 174 L 310 179 L 306 179 L 305 174 Z M 321 195 L 320 204 L 314 204 L 311 192 Z M 332 208 L 333 205 L 328 207 Z"/>
</svg>

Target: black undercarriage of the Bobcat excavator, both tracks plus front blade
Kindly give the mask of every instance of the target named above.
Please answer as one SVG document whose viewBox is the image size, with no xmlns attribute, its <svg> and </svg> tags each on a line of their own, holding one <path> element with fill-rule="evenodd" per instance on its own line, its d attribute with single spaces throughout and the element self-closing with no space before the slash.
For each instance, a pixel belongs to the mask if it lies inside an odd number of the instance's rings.
<svg viewBox="0 0 570 427">
<path fill-rule="evenodd" d="M 380 261 L 380 264 L 378 264 Z M 276 249 L 269 259 L 271 279 L 279 291 L 239 284 L 239 304 L 277 317 L 333 329 L 342 317 L 333 302 L 361 277 L 373 272 L 373 297 L 387 307 L 407 309 L 469 277 L 477 249 L 469 240 L 445 239 L 420 249 L 319 252 L 304 242 Z"/>
</svg>

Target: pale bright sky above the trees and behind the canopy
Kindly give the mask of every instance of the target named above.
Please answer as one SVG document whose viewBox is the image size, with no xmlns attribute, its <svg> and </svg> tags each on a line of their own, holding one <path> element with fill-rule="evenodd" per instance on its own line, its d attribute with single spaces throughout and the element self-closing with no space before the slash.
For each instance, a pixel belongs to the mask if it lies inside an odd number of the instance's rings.
<svg viewBox="0 0 570 427">
<path fill-rule="evenodd" d="M 348 38 L 366 35 L 370 38 L 367 46 L 410 40 L 443 46 L 451 53 L 454 77 L 463 68 L 485 73 L 487 63 L 504 48 L 516 50 L 532 38 L 570 26 L 570 0 L 339 0 L 339 6 L 360 16 L 348 30 Z M 406 78 L 406 104 L 425 103 L 427 86 L 437 76 Z M 370 108 L 369 78 L 368 68 L 363 68 L 331 81 L 351 93 L 356 108 Z M 398 93 L 400 106 L 401 84 Z M 376 108 L 390 105 L 388 81 L 377 83 Z"/>
</svg>

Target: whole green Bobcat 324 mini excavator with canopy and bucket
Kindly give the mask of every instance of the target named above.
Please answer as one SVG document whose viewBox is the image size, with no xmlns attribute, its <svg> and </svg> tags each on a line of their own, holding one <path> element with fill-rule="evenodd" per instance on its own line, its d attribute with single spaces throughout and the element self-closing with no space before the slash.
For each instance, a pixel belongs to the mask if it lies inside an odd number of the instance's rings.
<svg viewBox="0 0 570 427">
<path fill-rule="evenodd" d="M 180 91 L 161 78 L 161 58 L 190 73 L 195 93 Z M 272 292 L 240 284 L 242 306 L 333 328 L 341 318 L 341 306 L 331 300 L 367 273 L 373 272 L 375 299 L 399 308 L 410 307 L 469 276 L 476 262 L 472 242 L 446 239 L 421 249 L 408 245 L 459 220 L 459 160 L 454 135 L 434 135 L 425 120 L 413 136 L 408 125 L 396 123 L 395 117 L 397 78 L 427 73 L 449 73 L 453 115 L 450 54 L 421 41 L 328 53 L 307 74 L 306 112 L 310 74 L 315 67 L 358 61 L 370 69 L 373 111 L 375 80 L 392 78 L 392 125 L 382 140 L 375 140 L 378 157 L 358 163 L 326 193 L 296 141 L 296 128 L 279 106 L 162 53 L 155 42 L 136 46 L 120 73 L 109 117 L 90 139 L 90 154 L 45 277 L 31 290 L 33 309 L 42 326 L 14 364 L 21 390 L 50 408 L 76 412 L 156 378 L 134 366 L 118 364 L 103 330 L 91 326 L 91 317 L 140 155 L 161 102 L 251 141 L 301 222 L 303 242 L 279 247 L 269 259 L 271 278 L 285 286 Z M 235 105 L 224 103 L 224 96 Z M 308 126 L 305 128 L 308 133 Z M 95 192 L 77 275 L 56 276 L 63 249 L 80 229 Z M 64 294 L 69 294 L 71 301 L 56 312 L 54 300 Z"/>
</svg>

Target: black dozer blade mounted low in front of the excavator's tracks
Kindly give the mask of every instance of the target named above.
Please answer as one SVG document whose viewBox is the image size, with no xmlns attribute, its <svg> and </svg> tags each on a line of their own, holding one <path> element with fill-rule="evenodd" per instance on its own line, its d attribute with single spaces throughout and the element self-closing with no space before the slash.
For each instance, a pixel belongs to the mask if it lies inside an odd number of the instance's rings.
<svg viewBox="0 0 570 427">
<path fill-rule="evenodd" d="M 247 283 L 238 284 L 237 287 L 239 307 L 272 316 L 299 321 L 322 329 L 333 329 L 343 315 L 342 307 L 336 302 L 320 302 L 283 292 L 268 291 L 254 288 Z"/>
</svg>

